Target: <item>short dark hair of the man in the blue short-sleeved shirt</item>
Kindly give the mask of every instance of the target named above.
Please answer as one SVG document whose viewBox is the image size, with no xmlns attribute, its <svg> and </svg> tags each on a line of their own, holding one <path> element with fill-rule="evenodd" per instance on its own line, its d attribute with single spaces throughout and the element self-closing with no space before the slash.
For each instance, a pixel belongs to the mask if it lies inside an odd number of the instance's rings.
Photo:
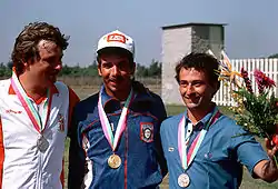
<svg viewBox="0 0 278 189">
<path fill-rule="evenodd" d="M 216 58 L 208 53 L 196 53 L 191 52 L 188 56 L 183 57 L 181 61 L 176 66 L 176 80 L 179 83 L 179 73 L 181 68 L 195 68 L 196 70 L 203 71 L 209 79 L 209 82 L 218 83 L 220 86 L 220 81 L 218 80 L 218 70 L 219 63 Z"/>
</svg>

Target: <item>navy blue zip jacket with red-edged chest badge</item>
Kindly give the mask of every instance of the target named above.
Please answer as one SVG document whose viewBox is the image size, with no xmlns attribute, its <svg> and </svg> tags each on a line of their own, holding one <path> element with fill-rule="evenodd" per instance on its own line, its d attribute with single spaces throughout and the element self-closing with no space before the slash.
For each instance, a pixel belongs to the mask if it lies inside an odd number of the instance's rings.
<svg viewBox="0 0 278 189">
<path fill-rule="evenodd" d="M 116 150 L 122 160 L 118 169 L 108 166 L 108 158 L 113 152 L 99 120 L 99 93 L 77 105 L 72 118 L 77 133 L 71 133 L 69 189 L 79 189 L 85 185 L 98 189 L 152 189 L 162 181 L 167 165 L 159 129 L 166 118 L 165 106 L 160 97 L 152 92 L 135 92 L 127 128 Z M 122 105 L 103 91 L 102 106 L 116 130 Z M 151 132 L 145 135 L 146 128 Z"/>
</svg>

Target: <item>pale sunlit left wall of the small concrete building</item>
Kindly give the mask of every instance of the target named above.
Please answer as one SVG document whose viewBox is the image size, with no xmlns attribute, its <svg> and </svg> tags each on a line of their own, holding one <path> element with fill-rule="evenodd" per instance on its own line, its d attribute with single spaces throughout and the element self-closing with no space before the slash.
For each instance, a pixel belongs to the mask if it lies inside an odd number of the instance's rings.
<svg viewBox="0 0 278 189">
<path fill-rule="evenodd" d="M 161 97 L 166 105 L 182 103 L 175 79 L 177 62 L 191 52 L 191 27 L 171 28 L 162 31 Z"/>
</svg>

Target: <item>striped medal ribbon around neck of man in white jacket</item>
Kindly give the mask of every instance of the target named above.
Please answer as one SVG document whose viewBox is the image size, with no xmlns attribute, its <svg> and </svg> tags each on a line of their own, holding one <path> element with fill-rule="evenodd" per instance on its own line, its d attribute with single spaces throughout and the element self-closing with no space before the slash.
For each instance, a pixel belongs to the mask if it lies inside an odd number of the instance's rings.
<svg viewBox="0 0 278 189">
<path fill-rule="evenodd" d="M 20 84 L 14 70 L 12 71 L 11 86 L 12 86 L 16 94 L 18 96 L 21 105 L 23 106 L 23 108 L 24 108 L 29 119 L 31 120 L 34 129 L 39 133 L 41 133 L 47 126 L 48 118 L 50 115 L 50 107 L 51 107 L 51 101 L 52 101 L 52 94 L 50 92 L 50 89 L 47 90 L 47 100 L 44 101 L 44 105 L 43 105 L 42 116 L 40 116 L 39 111 L 36 110 L 36 108 L 33 107 L 33 103 L 31 102 L 31 100 L 27 96 L 24 89 Z M 43 122 L 43 120 L 44 120 L 44 122 Z"/>
</svg>

